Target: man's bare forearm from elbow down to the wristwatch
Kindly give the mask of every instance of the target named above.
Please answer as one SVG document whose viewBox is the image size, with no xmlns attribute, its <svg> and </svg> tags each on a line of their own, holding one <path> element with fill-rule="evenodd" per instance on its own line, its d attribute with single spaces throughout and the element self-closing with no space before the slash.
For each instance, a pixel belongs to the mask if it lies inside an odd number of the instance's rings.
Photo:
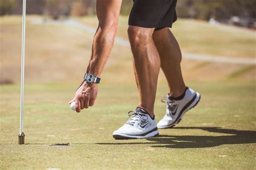
<svg viewBox="0 0 256 170">
<path fill-rule="evenodd" d="M 109 59 L 114 37 L 116 36 L 117 25 L 99 25 L 92 45 L 92 56 L 87 67 L 87 73 L 93 73 L 100 77 L 104 66 Z"/>
</svg>

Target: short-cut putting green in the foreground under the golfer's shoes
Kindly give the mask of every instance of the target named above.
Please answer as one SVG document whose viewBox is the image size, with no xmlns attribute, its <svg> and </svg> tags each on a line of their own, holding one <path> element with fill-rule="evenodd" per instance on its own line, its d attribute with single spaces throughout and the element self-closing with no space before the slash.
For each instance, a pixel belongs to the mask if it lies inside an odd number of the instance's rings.
<svg viewBox="0 0 256 170">
<path fill-rule="evenodd" d="M 17 145 L 19 86 L 0 86 L 0 169 L 255 169 L 255 83 L 188 83 L 199 105 L 159 137 L 114 140 L 112 132 L 137 105 L 135 84 L 100 84 L 94 107 L 69 108 L 76 85 L 26 84 L 24 132 Z M 157 121 L 165 105 L 156 100 Z M 70 142 L 70 146 L 49 146 Z"/>
</svg>

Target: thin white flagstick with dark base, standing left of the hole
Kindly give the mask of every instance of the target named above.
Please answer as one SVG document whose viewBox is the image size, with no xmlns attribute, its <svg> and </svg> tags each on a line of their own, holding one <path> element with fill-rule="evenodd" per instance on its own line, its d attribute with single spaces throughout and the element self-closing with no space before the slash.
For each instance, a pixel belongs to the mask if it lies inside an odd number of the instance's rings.
<svg viewBox="0 0 256 170">
<path fill-rule="evenodd" d="M 23 0 L 22 13 L 22 63 L 21 63 L 21 120 L 19 131 L 19 145 L 24 144 L 25 134 L 23 133 L 23 101 L 24 101 L 24 66 L 25 66 L 25 25 L 26 25 L 26 0 Z"/>
</svg>

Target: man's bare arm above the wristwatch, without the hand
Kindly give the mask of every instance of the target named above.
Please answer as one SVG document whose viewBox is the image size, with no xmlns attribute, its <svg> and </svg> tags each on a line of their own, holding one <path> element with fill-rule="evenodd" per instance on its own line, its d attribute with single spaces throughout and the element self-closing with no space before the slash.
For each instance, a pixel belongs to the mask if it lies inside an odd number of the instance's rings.
<svg viewBox="0 0 256 170">
<path fill-rule="evenodd" d="M 98 29 L 92 46 L 91 62 L 87 72 L 97 77 L 102 73 L 113 47 L 122 0 L 97 0 Z"/>
</svg>

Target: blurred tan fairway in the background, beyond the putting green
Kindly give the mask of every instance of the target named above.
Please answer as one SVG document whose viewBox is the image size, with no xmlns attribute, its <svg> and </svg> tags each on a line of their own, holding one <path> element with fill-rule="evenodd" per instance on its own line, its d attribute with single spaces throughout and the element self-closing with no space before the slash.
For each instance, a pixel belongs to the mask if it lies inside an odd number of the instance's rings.
<svg viewBox="0 0 256 170">
<path fill-rule="evenodd" d="M 80 83 L 80 78 L 83 76 L 91 56 L 94 33 L 72 25 L 32 23 L 35 19 L 42 21 L 42 18 L 39 16 L 27 17 L 25 82 Z M 75 19 L 77 21 L 80 19 L 82 24 L 93 26 L 93 28 L 98 24 L 96 17 Z M 119 18 L 117 32 L 118 37 L 126 40 L 128 40 L 127 20 L 128 18 L 124 16 Z M 19 83 L 22 18 L 20 16 L 5 16 L 0 17 L 0 22 L 0 79 Z M 186 23 L 190 25 L 190 28 L 185 26 Z M 186 29 L 190 29 L 193 36 Z M 210 25 L 191 19 L 179 19 L 171 30 L 177 37 L 183 52 L 241 59 L 255 57 L 255 32 L 251 30 L 234 26 Z M 212 35 L 214 31 L 215 37 Z M 253 64 L 212 63 L 189 59 L 183 59 L 181 68 L 184 79 L 191 81 L 215 81 L 230 78 L 239 81 L 254 81 L 256 72 L 256 66 Z M 118 83 L 134 82 L 132 71 L 130 46 L 122 46 L 116 42 L 101 78 L 105 82 L 113 80 Z M 116 79 L 117 72 L 118 79 Z M 159 79 L 165 80 L 163 73 L 160 74 Z"/>
</svg>

